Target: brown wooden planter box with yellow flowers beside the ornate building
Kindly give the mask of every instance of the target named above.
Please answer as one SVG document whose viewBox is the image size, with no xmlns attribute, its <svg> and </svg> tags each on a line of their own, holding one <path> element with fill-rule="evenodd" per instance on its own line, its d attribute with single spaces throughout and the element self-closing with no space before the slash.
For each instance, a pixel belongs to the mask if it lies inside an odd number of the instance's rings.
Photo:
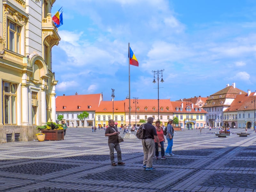
<svg viewBox="0 0 256 192">
<path fill-rule="evenodd" d="M 63 140 L 64 131 L 60 124 L 55 122 L 47 122 L 44 126 L 37 126 L 37 130 L 41 130 L 45 134 L 44 140 Z"/>
</svg>

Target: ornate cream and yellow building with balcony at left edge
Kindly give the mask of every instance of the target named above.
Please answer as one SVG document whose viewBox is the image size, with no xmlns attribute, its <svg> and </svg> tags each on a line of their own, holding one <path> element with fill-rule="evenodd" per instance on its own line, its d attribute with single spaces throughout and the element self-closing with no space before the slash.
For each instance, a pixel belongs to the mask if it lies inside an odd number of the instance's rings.
<svg viewBox="0 0 256 192">
<path fill-rule="evenodd" d="M 60 36 L 52 22 L 55 0 L 3 0 L 0 3 L 0 142 L 29 141 L 36 126 L 55 122 L 54 45 Z"/>
</svg>

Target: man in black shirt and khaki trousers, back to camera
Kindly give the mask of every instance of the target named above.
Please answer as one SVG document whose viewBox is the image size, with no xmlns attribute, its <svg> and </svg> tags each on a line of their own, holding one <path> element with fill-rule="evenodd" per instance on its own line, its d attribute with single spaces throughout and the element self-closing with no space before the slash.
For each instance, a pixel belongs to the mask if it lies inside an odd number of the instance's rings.
<svg viewBox="0 0 256 192">
<path fill-rule="evenodd" d="M 156 128 L 154 127 L 154 125 L 152 125 L 153 121 L 153 117 L 148 117 L 147 123 L 144 124 L 145 137 L 144 139 L 141 140 L 144 152 L 143 168 L 145 168 L 146 171 L 156 170 L 155 168 L 153 168 L 152 163 L 155 152 L 154 139 L 156 140 L 158 147 L 161 147 L 161 144 L 159 143 L 159 139 L 156 133 Z"/>
</svg>

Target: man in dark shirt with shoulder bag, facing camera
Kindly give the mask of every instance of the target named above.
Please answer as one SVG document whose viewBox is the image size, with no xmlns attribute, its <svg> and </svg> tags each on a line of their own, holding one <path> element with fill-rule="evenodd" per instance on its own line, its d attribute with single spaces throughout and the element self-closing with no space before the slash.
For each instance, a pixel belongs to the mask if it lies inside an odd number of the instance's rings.
<svg viewBox="0 0 256 192">
<path fill-rule="evenodd" d="M 124 165 L 125 163 L 122 161 L 122 154 L 121 148 L 118 143 L 118 134 L 120 132 L 115 127 L 115 122 L 113 119 L 108 121 L 108 127 L 105 131 L 105 137 L 108 137 L 108 147 L 109 147 L 109 154 L 110 154 L 110 161 L 112 166 L 116 166 L 115 156 L 114 156 L 114 149 L 117 153 L 117 165 Z"/>
</svg>

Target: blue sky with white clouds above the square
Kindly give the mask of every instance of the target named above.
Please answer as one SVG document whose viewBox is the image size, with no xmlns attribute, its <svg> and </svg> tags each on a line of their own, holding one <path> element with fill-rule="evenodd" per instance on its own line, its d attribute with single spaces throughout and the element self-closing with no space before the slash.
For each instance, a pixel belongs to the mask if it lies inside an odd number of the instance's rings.
<svg viewBox="0 0 256 192">
<path fill-rule="evenodd" d="M 157 99 L 152 70 L 162 70 L 159 99 L 209 96 L 226 84 L 255 91 L 254 0 L 57 0 L 61 41 L 52 48 L 57 95 Z"/>
</svg>

